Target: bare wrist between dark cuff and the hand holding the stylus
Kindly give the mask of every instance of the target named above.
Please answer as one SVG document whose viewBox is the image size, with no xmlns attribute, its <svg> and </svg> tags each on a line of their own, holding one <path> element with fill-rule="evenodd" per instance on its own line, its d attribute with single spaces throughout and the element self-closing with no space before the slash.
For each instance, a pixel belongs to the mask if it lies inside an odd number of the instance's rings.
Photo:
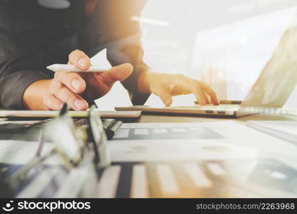
<svg viewBox="0 0 297 214">
<path fill-rule="evenodd" d="M 51 80 L 39 80 L 31 83 L 24 91 L 23 105 L 27 110 L 48 110 L 43 96 L 48 92 Z"/>
</svg>

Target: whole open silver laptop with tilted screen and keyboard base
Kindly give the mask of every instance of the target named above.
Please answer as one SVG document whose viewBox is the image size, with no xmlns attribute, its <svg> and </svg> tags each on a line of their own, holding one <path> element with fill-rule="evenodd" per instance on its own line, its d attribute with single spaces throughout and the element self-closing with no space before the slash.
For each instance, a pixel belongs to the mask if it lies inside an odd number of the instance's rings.
<svg viewBox="0 0 297 214">
<path fill-rule="evenodd" d="M 240 117 L 254 113 L 283 113 L 281 108 L 297 83 L 297 16 L 283 34 L 276 50 L 244 101 L 221 101 L 219 106 L 116 107 L 118 111 L 180 113 L 221 117 Z"/>
</svg>

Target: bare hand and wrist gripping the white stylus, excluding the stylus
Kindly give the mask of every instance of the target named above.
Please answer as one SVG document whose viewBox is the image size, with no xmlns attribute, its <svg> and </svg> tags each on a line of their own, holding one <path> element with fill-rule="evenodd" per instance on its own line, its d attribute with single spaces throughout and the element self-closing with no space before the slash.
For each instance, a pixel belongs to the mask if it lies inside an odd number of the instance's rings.
<svg viewBox="0 0 297 214">
<path fill-rule="evenodd" d="M 83 51 L 73 51 L 69 62 L 80 70 L 90 67 L 90 58 Z M 110 68 L 103 73 L 55 73 L 52 80 L 32 83 L 24 93 L 23 103 L 28 109 L 60 110 L 68 103 L 74 110 L 86 110 L 87 100 L 104 96 L 113 83 L 123 81 L 132 73 L 129 63 Z"/>
</svg>

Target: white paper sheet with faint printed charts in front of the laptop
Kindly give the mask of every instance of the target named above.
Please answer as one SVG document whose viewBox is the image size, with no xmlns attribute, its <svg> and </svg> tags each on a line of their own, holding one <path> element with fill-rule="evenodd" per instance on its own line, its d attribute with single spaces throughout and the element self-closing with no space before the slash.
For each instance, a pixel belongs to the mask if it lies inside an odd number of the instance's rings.
<svg viewBox="0 0 297 214">
<path fill-rule="evenodd" d="M 297 146 L 233 121 L 125 123 L 108 148 L 113 161 L 254 159 L 297 153 Z"/>
</svg>

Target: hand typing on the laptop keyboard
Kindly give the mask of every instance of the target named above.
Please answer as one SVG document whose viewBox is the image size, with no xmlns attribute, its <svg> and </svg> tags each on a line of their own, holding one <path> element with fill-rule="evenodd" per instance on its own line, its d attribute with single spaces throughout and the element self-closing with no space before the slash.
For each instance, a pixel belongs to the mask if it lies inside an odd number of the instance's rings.
<svg viewBox="0 0 297 214">
<path fill-rule="evenodd" d="M 172 104 L 172 96 L 189 93 L 194 93 L 200 105 L 219 104 L 216 93 L 207 83 L 182 74 L 146 72 L 140 76 L 138 85 L 142 93 L 160 96 L 166 106 Z"/>
</svg>

